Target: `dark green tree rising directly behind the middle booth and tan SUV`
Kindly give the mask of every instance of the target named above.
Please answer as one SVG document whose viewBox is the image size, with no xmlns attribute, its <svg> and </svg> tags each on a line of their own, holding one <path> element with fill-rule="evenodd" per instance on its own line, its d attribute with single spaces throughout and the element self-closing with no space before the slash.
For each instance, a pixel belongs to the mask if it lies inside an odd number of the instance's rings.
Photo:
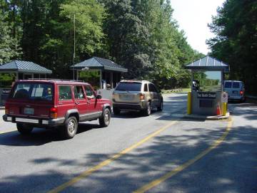
<svg viewBox="0 0 257 193">
<path fill-rule="evenodd" d="M 148 31 L 136 16 L 131 1 L 106 0 L 108 16 L 104 25 L 109 55 L 114 61 L 129 69 L 126 78 L 142 78 L 150 65 L 146 52 Z"/>
</svg>

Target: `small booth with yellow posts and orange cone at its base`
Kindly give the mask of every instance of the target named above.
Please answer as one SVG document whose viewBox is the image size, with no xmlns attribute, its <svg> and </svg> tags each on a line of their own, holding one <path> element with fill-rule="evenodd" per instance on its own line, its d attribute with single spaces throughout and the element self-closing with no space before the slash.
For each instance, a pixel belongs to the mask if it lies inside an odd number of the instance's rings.
<svg viewBox="0 0 257 193">
<path fill-rule="evenodd" d="M 227 93 L 223 92 L 224 73 L 228 65 L 205 56 L 186 65 L 191 70 L 191 92 L 188 93 L 188 114 L 226 115 Z"/>
</svg>

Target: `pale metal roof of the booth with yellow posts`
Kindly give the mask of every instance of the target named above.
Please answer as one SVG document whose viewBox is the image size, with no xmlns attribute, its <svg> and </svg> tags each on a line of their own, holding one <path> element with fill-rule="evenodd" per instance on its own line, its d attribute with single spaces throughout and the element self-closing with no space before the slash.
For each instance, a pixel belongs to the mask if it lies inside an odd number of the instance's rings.
<svg viewBox="0 0 257 193">
<path fill-rule="evenodd" d="M 222 61 L 218 61 L 211 56 L 205 56 L 185 66 L 191 70 L 206 70 L 206 71 L 228 71 L 228 65 Z"/>
</svg>

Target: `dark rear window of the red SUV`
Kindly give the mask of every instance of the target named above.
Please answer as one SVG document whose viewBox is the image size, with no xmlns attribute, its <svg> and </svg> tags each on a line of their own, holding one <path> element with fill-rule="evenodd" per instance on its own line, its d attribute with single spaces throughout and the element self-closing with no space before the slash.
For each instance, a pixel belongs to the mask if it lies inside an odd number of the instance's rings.
<svg viewBox="0 0 257 193">
<path fill-rule="evenodd" d="M 53 85 L 46 83 L 17 83 L 11 98 L 24 100 L 53 100 Z"/>
</svg>

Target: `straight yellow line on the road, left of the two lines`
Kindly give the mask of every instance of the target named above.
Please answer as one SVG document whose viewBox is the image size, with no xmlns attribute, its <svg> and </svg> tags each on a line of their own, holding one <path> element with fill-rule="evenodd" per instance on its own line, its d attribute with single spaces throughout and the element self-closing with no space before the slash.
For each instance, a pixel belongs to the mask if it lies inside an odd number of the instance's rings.
<svg viewBox="0 0 257 193">
<path fill-rule="evenodd" d="M 163 130 L 166 130 L 171 125 L 176 124 L 176 122 L 178 122 L 178 121 L 177 120 L 172 121 L 168 125 L 161 127 L 159 130 L 156 130 L 156 132 L 153 132 L 151 135 L 148 135 L 147 137 L 143 138 L 143 140 L 137 142 L 136 144 L 131 145 L 131 147 L 128 147 L 125 150 L 122 150 L 121 152 L 117 153 L 116 155 L 109 158 L 108 160 L 105 160 L 104 162 L 99 163 L 99 165 L 96 165 L 96 166 L 92 167 L 91 169 L 88 169 L 88 170 L 82 172 L 81 174 L 79 174 L 79 176 L 74 177 L 73 179 L 69 180 L 68 182 L 65 182 L 64 184 L 61 184 L 59 187 L 51 189 L 49 191 L 49 193 L 61 192 L 62 190 L 66 189 L 67 187 L 70 187 L 71 185 L 75 184 L 76 182 L 79 182 L 81 179 L 88 177 L 91 173 L 96 172 L 97 170 L 101 169 L 101 167 L 109 165 L 111 162 L 113 162 L 114 160 L 117 160 L 119 157 L 126 155 L 126 153 L 135 149 L 139 145 L 142 145 L 144 142 L 147 142 L 152 137 L 158 135 L 160 132 L 163 132 Z"/>
</svg>

